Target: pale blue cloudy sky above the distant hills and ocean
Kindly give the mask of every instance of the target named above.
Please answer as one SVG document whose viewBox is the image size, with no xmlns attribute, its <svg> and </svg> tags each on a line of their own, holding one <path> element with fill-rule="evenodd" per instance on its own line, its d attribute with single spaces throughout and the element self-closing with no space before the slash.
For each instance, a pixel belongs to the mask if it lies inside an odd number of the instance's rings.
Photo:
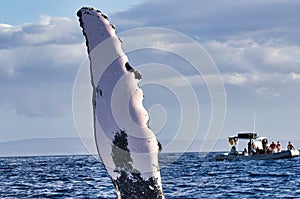
<svg viewBox="0 0 300 199">
<path fill-rule="evenodd" d="M 300 2 L 296 0 L 136 0 L 130 3 L 12 0 L 1 3 L 1 142 L 78 136 L 72 92 L 87 57 L 76 17 L 82 6 L 92 6 L 107 14 L 121 35 L 134 28 L 156 27 L 177 31 L 198 42 L 215 63 L 224 84 L 226 117 L 219 138 L 253 130 L 256 112 L 255 130 L 262 135 L 274 140 L 300 140 L 300 13 L 297 9 Z M 126 38 L 125 34 L 124 48 Z M 162 45 L 170 43 L 168 40 Z M 149 50 L 128 56 L 131 65 L 141 70 L 147 71 L 145 64 L 164 64 L 190 82 L 197 96 L 200 119 L 188 116 L 187 120 L 199 119 L 196 138 L 205 137 L 203 132 L 209 128 L 212 115 L 212 96 L 203 83 L 206 77 L 183 67 L 187 64 L 170 53 Z M 186 90 L 185 83 L 176 76 L 163 77 L 161 69 L 152 71 L 156 74 L 154 79 L 169 82 L 173 89 Z M 146 73 L 143 78 L 147 79 Z M 143 90 L 145 107 L 151 109 L 153 129 L 160 139 L 172 138 L 182 119 L 182 110 L 178 108 L 182 107 L 181 99 L 172 90 L 166 92 L 154 84 L 145 84 Z M 194 108 L 187 105 L 186 109 Z"/>
</svg>

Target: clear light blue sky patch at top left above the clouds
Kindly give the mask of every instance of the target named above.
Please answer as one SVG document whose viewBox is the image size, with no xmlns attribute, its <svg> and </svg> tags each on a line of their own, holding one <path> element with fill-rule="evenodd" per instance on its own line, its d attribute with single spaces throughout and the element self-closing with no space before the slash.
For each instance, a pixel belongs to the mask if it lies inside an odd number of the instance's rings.
<svg viewBox="0 0 300 199">
<path fill-rule="evenodd" d="M 0 23 L 18 25 L 37 21 L 41 15 L 64 16 L 76 18 L 81 7 L 95 7 L 104 13 L 114 12 L 131 7 L 143 0 L 99 1 L 99 0 L 10 0 L 1 1 Z"/>
</svg>

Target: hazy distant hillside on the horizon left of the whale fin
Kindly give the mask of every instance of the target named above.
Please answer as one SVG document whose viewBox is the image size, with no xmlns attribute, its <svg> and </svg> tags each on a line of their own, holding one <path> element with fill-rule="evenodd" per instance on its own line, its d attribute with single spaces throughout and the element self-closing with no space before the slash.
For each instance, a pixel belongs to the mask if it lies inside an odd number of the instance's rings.
<svg viewBox="0 0 300 199">
<path fill-rule="evenodd" d="M 93 145 L 93 140 L 85 138 Z M 36 138 L 0 143 L 0 156 L 84 155 L 89 154 L 80 138 Z"/>
</svg>

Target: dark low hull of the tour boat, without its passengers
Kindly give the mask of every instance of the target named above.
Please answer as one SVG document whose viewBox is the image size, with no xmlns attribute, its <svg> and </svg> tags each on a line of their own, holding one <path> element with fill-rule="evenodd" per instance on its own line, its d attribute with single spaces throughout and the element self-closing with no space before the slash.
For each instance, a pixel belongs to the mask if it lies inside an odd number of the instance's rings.
<svg viewBox="0 0 300 199">
<path fill-rule="evenodd" d="M 299 156 L 298 150 L 288 150 L 282 151 L 279 153 L 269 153 L 269 154 L 257 154 L 257 155 L 228 155 L 228 154 L 217 154 L 215 159 L 217 161 L 222 160 L 276 160 L 276 159 L 286 159 L 286 158 L 293 158 Z"/>
</svg>

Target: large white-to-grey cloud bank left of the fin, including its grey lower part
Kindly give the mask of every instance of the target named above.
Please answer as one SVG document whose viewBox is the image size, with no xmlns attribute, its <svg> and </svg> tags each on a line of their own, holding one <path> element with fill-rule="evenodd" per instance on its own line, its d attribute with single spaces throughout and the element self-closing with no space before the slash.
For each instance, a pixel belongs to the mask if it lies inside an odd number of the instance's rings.
<svg viewBox="0 0 300 199">
<path fill-rule="evenodd" d="M 0 25 L 0 104 L 27 116 L 71 111 L 76 71 L 86 58 L 79 24 L 42 16 L 36 23 Z"/>
</svg>

